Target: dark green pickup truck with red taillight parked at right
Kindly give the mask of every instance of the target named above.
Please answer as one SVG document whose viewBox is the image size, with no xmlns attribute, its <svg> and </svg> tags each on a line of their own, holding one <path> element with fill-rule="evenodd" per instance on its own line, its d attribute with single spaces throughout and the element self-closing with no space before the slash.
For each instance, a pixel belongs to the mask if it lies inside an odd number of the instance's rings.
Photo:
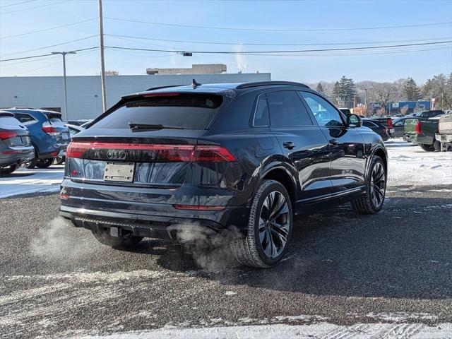
<svg viewBox="0 0 452 339">
<path fill-rule="evenodd" d="M 441 150 L 441 143 L 435 138 L 436 133 L 438 133 L 440 117 L 406 119 L 405 139 L 412 143 L 417 143 L 423 150 L 427 150 L 428 152 Z"/>
</svg>

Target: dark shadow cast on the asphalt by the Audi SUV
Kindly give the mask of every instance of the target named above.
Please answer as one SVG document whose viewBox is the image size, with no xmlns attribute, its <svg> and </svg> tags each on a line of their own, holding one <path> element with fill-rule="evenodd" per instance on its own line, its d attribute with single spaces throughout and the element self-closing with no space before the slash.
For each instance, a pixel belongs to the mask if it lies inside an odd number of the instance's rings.
<svg viewBox="0 0 452 339">
<path fill-rule="evenodd" d="M 312 295 L 444 299 L 452 297 L 451 210 L 446 198 L 391 197 L 378 215 L 357 215 L 348 206 L 311 215 L 296 223 L 285 259 L 270 269 L 237 266 L 223 250 L 200 254 L 162 244 L 164 249 L 156 252 L 154 242 L 144 242 L 137 251 L 161 254 L 157 263 L 163 268 L 187 274 L 195 270 L 225 285 Z"/>
</svg>

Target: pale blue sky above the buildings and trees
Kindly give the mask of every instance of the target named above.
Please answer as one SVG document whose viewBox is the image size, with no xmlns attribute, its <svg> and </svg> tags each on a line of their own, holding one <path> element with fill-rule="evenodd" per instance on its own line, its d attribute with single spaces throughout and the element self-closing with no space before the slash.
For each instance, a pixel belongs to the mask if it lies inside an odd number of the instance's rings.
<svg viewBox="0 0 452 339">
<path fill-rule="evenodd" d="M 271 72 L 272 80 L 316 83 L 347 76 L 355 81 L 392 82 L 410 76 L 417 83 L 423 83 L 436 74 L 452 72 L 451 43 L 276 55 L 195 53 L 334 49 L 450 41 L 451 0 L 103 0 L 103 12 L 106 47 L 174 51 L 106 48 L 106 69 L 119 71 L 121 75 L 145 74 L 148 67 L 226 64 L 228 73 Z M 97 0 L 0 0 L 0 60 L 97 47 L 97 16 Z M 61 25 L 66 27 L 48 30 Z M 387 28 L 406 25 L 422 26 Z M 35 32 L 37 30 L 42 31 Z M 183 57 L 177 51 L 194 51 L 194 54 L 193 57 Z M 99 49 L 68 55 L 66 70 L 69 76 L 99 74 Z M 0 76 L 59 76 L 61 73 L 61 56 L 58 55 L 0 63 Z"/>
</svg>

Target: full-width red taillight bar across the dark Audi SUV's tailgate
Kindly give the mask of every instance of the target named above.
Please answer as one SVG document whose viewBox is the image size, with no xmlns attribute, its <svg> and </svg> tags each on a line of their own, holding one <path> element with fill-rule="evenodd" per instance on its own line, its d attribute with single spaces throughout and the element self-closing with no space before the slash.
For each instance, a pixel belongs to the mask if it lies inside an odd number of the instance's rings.
<svg viewBox="0 0 452 339">
<path fill-rule="evenodd" d="M 150 152 L 155 162 L 231 162 L 236 161 L 226 148 L 219 145 L 151 145 L 143 143 L 80 143 L 72 142 L 66 150 L 66 157 L 90 157 L 91 150 L 104 150 L 106 157 L 117 154 L 126 157 L 127 150 Z M 121 153 L 121 154 L 119 154 Z M 97 153 L 99 157 L 100 153 Z"/>
</svg>

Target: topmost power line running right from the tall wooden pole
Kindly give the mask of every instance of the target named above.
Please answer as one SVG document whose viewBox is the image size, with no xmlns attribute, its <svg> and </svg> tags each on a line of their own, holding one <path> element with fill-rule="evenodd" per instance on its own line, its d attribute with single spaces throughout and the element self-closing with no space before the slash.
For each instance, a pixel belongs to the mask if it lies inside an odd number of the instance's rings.
<svg viewBox="0 0 452 339">
<path fill-rule="evenodd" d="M 398 26 L 377 26 L 377 27 L 361 27 L 361 28 L 233 28 L 233 27 L 218 27 L 218 26 L 200 26 L 200 25 L 179 25 L 176 23 L 156 23 L 152 21 L 142 21 L 142 20 L 132 20 L 123 18 L 111 18 L 108 16 L 104 17 L 109 20 L 119 20 L 127 21 L 130 23 L 147 23 L 149 25 L 161 25 L 161 26 L 172 26 L 172 27 L 182 27 L 182 28 L 202 28 L 208 30 L 246 30 L 255 32 L 338 32 L 344 30 L 386 30 L 392 28 L 412 28 L 412 27 L 426 27 L 434 25 L 448 25 L 452 21 L 444 23 L 422 23 L 417 25 L 398 25 Z"/>
</svg>

